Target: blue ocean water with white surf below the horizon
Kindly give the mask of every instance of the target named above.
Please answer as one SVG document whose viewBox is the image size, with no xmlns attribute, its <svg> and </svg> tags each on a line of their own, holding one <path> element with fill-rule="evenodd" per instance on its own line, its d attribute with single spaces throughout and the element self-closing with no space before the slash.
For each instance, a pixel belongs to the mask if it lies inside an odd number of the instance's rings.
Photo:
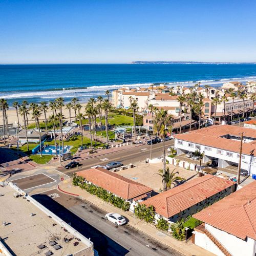
<svg viewBox="0 0 256 256">
<path fill-rule="evenodd" d="M 63 97 L 66 102 L 77 97 L 86 102 L 105 96 L 106 90 L 124 85 L 147 87 L 165 82 L 170 86 L 201 84 L 219 86 L 224 81 L 256 79 L 256 65 L 0 65 L 0 98 L 9 104 L 51 101 Z"/>
</svg>

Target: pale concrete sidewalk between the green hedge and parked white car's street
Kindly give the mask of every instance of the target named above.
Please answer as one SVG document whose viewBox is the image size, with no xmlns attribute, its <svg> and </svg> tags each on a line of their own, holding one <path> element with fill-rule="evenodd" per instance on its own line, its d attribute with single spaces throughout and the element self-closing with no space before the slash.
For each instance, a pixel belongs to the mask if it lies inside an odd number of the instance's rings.
<svg viewBox="0 0 256 256">
<path fill-rule="evenodd" d="M 118 209 L 103 200 L 99 199 L 98 197 L 89 194 L 86 190 L 83 190 L 79 187 L 73 186 L 71 179 L 67 179 L 59 183 L 58 188 L 60 191 L 64 191 L 70 195 L 79 195 L 81 198 L 86 199 L 87 201 L 91 202 L 92 204 L 98 206 L 99 208 L 105 210 L 106 212 L 116 212 L 129 220 L 130 226 L 139 229 L 140 231 L 146 233 L 148 236 L 158 240 L 159 242 L 169 246 L 170 248 L 175 249 L 179 253 L 184 255 L 214 255 L 209 251 L 204 250 L 203 248 L 191 243 L 191 240 L 186 244 L 184 241 L 177 241 L 172 237 L 167 236 L 166 234 L 159 231 L 153 225 L 147 224 L 137 218 L 134 218 L 132 212 L 127 211 L 124 212 L 121 209 Z"/>
</svg>

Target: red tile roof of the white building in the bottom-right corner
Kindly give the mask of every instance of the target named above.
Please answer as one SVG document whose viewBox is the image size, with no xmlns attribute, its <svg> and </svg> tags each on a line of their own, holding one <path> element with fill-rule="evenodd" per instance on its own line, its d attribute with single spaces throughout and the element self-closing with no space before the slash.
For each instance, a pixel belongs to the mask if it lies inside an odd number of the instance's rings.
<svg viewBox="0 0 256 256">
<path fill-rule="evenodd" d="M 241 239 L 256 240 L 256 181 L 193 217 Z"/>
</svg>

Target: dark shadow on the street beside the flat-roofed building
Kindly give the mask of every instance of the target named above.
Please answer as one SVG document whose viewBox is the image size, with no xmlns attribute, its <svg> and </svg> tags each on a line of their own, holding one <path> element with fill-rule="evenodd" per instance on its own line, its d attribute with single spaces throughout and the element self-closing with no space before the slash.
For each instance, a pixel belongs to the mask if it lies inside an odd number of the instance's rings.
<svg viewBox="0 0 256 256">
<path fill-rule="evenodd" d="M 71 222 L 72 227 L 83 234 L 84 237 L 88 239 L 91 238 L 91 241 L 94 243 L 94 248 L 99 252 L 99 255 L 125 255 L 129 252 L 129 250 L 125 249 L 114 240 L 110 239 L 108 236 L 80 219 L 49 196 L 38 194 L 33 195 L 32 197 L 40 204 L 51 210 L 63 221 L 67 223 Z"/>
</svg>

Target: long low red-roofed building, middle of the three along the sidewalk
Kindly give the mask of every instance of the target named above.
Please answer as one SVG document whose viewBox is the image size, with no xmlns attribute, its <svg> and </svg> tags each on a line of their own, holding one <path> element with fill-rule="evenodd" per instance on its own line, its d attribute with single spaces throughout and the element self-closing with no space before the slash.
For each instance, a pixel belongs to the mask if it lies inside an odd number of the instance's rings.
<svg viewBox="0 0 256 256">
<path fill-rule="evenodd" d="M 156 220 L 163 218 L 174 223 L 233 193 L 235 188 L 233 181 L 208 174 L 164 191 L 140 204 L 153 205 Z"/>
</svg>

